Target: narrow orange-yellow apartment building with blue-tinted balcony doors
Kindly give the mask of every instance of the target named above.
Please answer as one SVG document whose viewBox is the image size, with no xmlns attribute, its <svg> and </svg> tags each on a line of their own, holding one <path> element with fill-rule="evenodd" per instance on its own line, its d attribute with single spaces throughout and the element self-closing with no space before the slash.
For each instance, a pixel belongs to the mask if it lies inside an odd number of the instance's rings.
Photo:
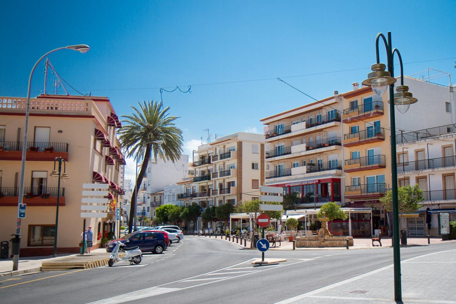
<svg viewBox="0 0 456 304">
<path fill-rule="evenodd" d="M 353 90 L 340 97 L 345 201 L 348 207 L 372 208 L 373 229 L 386 233 L 380 197 L 391 187 L 388 94 L 380 97 L 370 87 L 358 88 L 355 82 Z"/>
</svg>

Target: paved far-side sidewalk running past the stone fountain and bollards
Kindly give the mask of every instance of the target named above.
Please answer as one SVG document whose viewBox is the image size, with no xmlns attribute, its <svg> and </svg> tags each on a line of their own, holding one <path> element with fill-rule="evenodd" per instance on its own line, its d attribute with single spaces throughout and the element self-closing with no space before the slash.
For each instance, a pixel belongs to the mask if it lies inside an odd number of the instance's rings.
<svg viewBox="0 0 456 304">
<path fill-rule="evenodd" d="M 204 237 L 204 236 L 200 236 Z M 220 240 L 220 236 L 207 236 L 205 238 L 210 238 L 210 239 L 218 239 Z M 378 242 L 374 243 L 374 247 L 372 247 L 372 239 L 369 238 L 353 238 L 353 246 L 350 246 L 349 249 L 368 249 L 368 248 L 387 248 L 392 246 L 392 238 L 391 237 L 382 237 L 382 247 L 378 245 Z M 225 237 L 223 236 L 223 241 L 225 241 Z M 233 239 L 228 241 L 228 239 L 225 242 L 233 242 Z M 446 244 L 446 243 L 454 243 L 456 240 L 448 240 L 448 241 L 442 241 L 440 237 L 430 237 L 430 244 Z M 236 243 L 236 238 L 234 238 L 234 244 L 250 249 L 250 241 L 246 242 L 246 245 L 244 247 L 244 240 L 241 241 L 239 240 L 238 243 Z M 277 242 L 276 247 L 272 246 L 272 243 L 270 244 L 269 250 L 293 250 L 293 242 L 281 242 L 279 246 L 279 242 Z M 407 246 L 428 246 L 428 239 L 427 237 L 407 237 Z M 302 248 L 295 248 L 295 250 L 341 250 L 345 249 L 345 247 L 325 247 L 325 248 L 309 248 L 309 247 L 302 247 Z"/>
</svg>

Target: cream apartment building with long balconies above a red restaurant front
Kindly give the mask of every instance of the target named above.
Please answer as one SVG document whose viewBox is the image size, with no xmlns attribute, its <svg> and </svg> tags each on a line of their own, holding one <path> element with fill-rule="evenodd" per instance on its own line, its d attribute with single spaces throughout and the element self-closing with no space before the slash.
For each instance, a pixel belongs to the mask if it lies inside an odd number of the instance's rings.
<svg viewBox="0 0 456 304">
<path fill-rule="evenodd" d="M 341 117 L 341 102 L 335 92 L 260 119 L 266 125 L 265 185 L 283 187 L 284 194 L 296 193 L 298 208 L 313 208 L 328 201 L 340 204 Z"/>
</svg>

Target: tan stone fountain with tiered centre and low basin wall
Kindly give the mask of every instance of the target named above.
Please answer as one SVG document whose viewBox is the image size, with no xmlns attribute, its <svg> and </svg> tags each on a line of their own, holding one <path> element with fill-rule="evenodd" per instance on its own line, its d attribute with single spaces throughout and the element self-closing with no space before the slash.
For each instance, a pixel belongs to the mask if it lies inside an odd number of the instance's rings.
<svg viewBox="0 0 456 304">
<path fill-rule="evenodd" d="M 334 237 L 331 232 L 329 232 L 326 226 L 329 218 L 325 217 L 325 211 L 323 211 L 322 214 L 323 217 L 318 219 L 321 221 L 321 228 L 318 230 L 317 235 L 311 237 L 296 237 L 296 247 L 346 247 L 347 239 L 348 246 L 353 246 L 353 237 Z"/>
</svg>

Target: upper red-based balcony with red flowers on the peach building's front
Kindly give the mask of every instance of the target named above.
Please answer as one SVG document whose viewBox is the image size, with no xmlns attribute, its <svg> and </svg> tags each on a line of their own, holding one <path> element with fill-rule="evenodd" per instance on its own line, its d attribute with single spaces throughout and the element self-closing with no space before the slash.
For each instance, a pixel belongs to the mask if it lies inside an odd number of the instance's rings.
<svg viewBox="0 0 456 304">
<path fill-rule="evenodd" d="M 1 141 L 0 160 L 22 160 L 22 141 Z M 34 161 L 53 161 L 60 156 L 68 161 L 67 143 L 27 142 L 26 159 Z"/>
</svg>

